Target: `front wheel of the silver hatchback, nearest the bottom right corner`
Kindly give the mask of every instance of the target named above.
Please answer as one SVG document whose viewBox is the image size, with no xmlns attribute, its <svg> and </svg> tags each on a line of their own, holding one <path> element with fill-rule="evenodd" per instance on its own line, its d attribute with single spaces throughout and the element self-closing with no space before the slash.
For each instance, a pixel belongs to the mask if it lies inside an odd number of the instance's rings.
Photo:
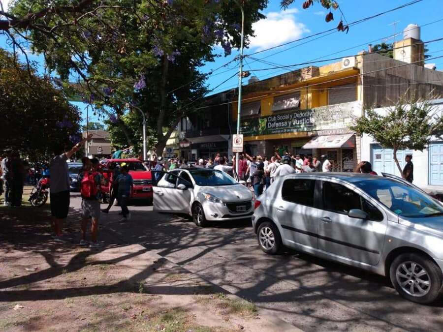
<svg viewBox="0 0 443 332">
<path fill-rule="evenodd" d="M 389 275 L 397 292 L 409 301 L 427 304 L 441 296 L 442 271 L 425 255 L 399 255 L 392 262 Z"/>
</svg>

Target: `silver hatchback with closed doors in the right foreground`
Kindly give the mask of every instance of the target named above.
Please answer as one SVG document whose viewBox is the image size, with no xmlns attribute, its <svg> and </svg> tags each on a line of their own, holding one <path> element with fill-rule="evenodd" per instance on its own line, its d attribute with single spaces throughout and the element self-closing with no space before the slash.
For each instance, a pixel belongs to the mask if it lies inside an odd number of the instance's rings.
<svg viewBox="0 0 443 332">
<path fill-rule="evenodd" d="M 442 295 L 443 205 L 402 181 L 355 173 L 278 178 L 255 202 L 268 254 L 284 246 L 390 278 L 406 299 Z"/>
</svg>

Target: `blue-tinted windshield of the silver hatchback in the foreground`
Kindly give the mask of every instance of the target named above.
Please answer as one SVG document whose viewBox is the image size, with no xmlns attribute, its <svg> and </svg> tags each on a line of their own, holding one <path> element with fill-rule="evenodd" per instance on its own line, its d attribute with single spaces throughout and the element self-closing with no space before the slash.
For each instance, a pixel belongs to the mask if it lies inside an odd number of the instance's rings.
<svg viewBox="0 0 443 332">
<path fill-rule="evenodd" d="M 376 179 L 355 184 L 403 217 L 419 218 L 443 215 L 443 206 L 430 196 L 398 181 Z"/>
</svg>

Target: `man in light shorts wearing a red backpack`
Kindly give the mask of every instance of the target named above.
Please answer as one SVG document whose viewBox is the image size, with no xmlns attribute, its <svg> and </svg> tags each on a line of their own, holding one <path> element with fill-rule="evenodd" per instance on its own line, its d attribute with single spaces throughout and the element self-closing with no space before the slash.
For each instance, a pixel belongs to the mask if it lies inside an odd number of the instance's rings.
<svg viewBox="0 0 443 332">
<path fill-rule="evenodd" d="M 101 200 L 100 184 L 103 181 L 103 176 L 98 172 L 98 167 L 100 165 L 98 159 L 97 158 L 91 159 L 91 164 L 92 167 L 90 170 L 85 170 L 79 175 L 79 179 L 83 179 L 85 176 L 91 174 L 94 175 L 93 185 L 96 188 L 95 190 L 96 194 L 93 197 L 84 197 L 84 194 L 82 192 L 82 225 L 81 225 L 82 240 L 80 241 L 80 245 L 89 244 L 90 248 L 98 248 L 103 246 L 102 242 L 97 241 L 98 220 L 100 218 L 100 200 Z M 86 227 L 88 225 L 89 219 L 91 219 L 91 243 L 86 241 Z"/>
</svg>

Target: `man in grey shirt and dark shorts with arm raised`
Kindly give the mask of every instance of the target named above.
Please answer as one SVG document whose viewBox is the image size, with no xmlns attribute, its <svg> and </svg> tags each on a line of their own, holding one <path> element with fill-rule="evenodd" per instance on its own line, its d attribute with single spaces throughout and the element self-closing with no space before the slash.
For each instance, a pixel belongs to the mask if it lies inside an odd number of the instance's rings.
<svg viewBox="0 0 443 332">
<path fill-rule="evenodd" d="M 92 134 L 77 143 L 70 151 L 63 152 L 62 147 L 54 149 L 54 157 L 49 169 L 50 180 L 50 201 L 52 225 L 55 233 L 54 241 L 65 242 L 69 239 L 63 237 L 63 221 L 69 211 L 69 171 L 66 163 L 67 159 L 80 149 L 86 141 L 89 141 Z"/>
</svg>

